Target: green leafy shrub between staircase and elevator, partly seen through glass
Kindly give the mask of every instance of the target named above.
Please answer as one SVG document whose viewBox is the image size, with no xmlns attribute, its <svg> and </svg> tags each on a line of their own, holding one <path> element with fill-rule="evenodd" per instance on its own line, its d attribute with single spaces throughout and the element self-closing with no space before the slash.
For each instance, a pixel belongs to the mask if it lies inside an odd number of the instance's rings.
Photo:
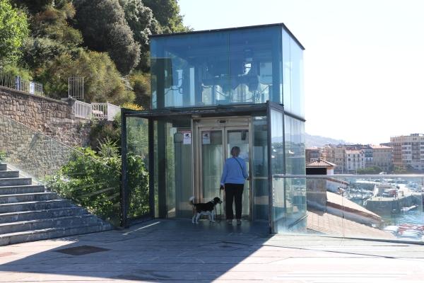
<svg viewBox="0 0 424 283">
<path fill-rule="evenodd" d="M 48 187 L 61 197 L 73 200 L 89 212 L 119 224 L 121 156 L 112 141 L 100 145 L 98 154 L 81 149 L 61 171 L 47 180 Z M 128 156 L 129 211 L 131 216 L 148 213 L 148 173 L 141 156 Z"/>
</svg>

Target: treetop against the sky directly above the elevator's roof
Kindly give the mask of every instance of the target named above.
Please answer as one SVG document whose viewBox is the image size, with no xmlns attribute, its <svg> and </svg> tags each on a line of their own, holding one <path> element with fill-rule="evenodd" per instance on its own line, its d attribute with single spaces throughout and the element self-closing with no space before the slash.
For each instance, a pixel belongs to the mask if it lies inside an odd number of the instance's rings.
<svg viewBox="0 0 424 283">
<path fill-rule="evenodd" d="M 143 3 L 152 9 L 163 33 L 179 33 L 189 30 L 182 23 L 183 16 L 179 14 L 177 0 L 143 0 Z"/>
</svg>

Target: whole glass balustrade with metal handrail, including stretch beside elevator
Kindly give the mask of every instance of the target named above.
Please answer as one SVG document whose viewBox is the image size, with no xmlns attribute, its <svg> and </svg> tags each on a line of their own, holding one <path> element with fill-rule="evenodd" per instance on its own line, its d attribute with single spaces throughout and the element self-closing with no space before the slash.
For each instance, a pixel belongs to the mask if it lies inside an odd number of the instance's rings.
<svg viewBox="0 0 424 283">
<path fill-rule="evenodd" d="M 273 175 L 271 195 L 276 233 L 424 242 L 424 175 Z"/>
</svg>

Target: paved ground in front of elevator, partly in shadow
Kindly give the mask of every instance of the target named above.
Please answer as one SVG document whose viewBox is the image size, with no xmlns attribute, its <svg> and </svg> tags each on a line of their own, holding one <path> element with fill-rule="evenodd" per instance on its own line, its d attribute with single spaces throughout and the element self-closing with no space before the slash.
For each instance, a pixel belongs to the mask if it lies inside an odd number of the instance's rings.
<svg viewBox="0 0 424 283">
<path fill-rule="evenodd" d="M 0 247 L 0 282 L 424 282 L 423 267 L 424 246 L 206 221 Z"/>
</svg>

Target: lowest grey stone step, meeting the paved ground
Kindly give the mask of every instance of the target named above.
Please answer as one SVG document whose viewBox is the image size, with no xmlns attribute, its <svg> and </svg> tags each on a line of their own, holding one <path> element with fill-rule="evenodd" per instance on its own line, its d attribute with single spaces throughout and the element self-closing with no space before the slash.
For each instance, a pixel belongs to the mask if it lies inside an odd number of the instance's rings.
<svg viewBox="0 0 424 283">
<path fill-rule="evenodd" d="M 59 227 L 25 231 L 18 233 L 8 233 L 0 235 L 0 246 L 11 245 L 13 243 L 24 243 L 30 241 L 40 241 L 49 238 L 61 238 L 65 236 L 81 235 L 112 230 L 113 226 L 107 223 L 98 223 L 93 226 Z"/>
</svg>

